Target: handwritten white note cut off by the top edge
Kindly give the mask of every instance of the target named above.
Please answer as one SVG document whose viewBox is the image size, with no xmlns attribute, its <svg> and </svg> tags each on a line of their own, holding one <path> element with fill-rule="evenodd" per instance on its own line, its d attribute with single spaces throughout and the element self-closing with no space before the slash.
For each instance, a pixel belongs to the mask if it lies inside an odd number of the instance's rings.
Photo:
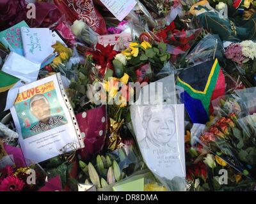
<svg viewBox="0 0 256 204">
<path fill-rule="evenodd" d="M 115 17 L 122 21 L 136 5 L 136 0 L 100 0 Z"/>
</svg>

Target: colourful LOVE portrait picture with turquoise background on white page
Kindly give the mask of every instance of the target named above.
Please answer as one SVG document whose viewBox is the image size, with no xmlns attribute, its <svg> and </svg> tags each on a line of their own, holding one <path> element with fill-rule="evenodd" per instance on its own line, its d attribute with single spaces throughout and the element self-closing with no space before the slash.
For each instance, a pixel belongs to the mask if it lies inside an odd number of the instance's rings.
<svg viewBox="0 0 256 204">
<path fill-rule="evenodd" d="M 15 110 L 23 139 L 67 124 L 53 82 L 20 93 Z"/>
</svg>

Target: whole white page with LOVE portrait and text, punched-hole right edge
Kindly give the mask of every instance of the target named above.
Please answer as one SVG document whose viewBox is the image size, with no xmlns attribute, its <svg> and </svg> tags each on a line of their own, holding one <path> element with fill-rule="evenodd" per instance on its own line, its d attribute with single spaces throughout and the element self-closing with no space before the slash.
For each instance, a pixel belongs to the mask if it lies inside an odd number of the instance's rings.
<svg viewBox="0 0 256 204">
<path fill-rule="evenodd" d="M 20 87 L 11 112 L 28 166 L 84 147 L 60 73 Z"/>
</svg>

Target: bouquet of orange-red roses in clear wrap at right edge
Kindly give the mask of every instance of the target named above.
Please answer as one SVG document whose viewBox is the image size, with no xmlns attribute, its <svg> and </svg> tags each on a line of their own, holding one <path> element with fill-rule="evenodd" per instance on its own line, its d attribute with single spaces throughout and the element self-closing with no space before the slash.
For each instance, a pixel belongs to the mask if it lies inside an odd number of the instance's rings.
<svg viewBox="0 0 256 204">
<path fill-rule="evenodd" d="M 242 112 L 243 105 L 232 97 L 220 99 L 219 107 L 218 116 L 209 122 L 199 142 L 239 173 L 255 180 L 255 114 Z"/>
</svg>

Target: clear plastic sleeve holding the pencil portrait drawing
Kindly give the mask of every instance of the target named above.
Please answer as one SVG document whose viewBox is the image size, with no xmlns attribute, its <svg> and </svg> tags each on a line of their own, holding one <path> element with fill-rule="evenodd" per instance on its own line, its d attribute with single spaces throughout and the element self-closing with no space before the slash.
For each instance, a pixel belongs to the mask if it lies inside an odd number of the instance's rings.
<svg viewBox="0 0 256 204">
<path fill-rule="evenodd" d="M 162 98 L 157 98 L 157 82 L 143 87 L 136 105 L 131 105 L 131 120 L 150 171 L 170 190 L 185 191 L 184 105 L 177 104 L 174 78 L 170 77 L 173 75 L 157 81 L 163 86 Z M 147 101 L 147 93 L 150 99 L 157 99 Z"/>
</svg>

